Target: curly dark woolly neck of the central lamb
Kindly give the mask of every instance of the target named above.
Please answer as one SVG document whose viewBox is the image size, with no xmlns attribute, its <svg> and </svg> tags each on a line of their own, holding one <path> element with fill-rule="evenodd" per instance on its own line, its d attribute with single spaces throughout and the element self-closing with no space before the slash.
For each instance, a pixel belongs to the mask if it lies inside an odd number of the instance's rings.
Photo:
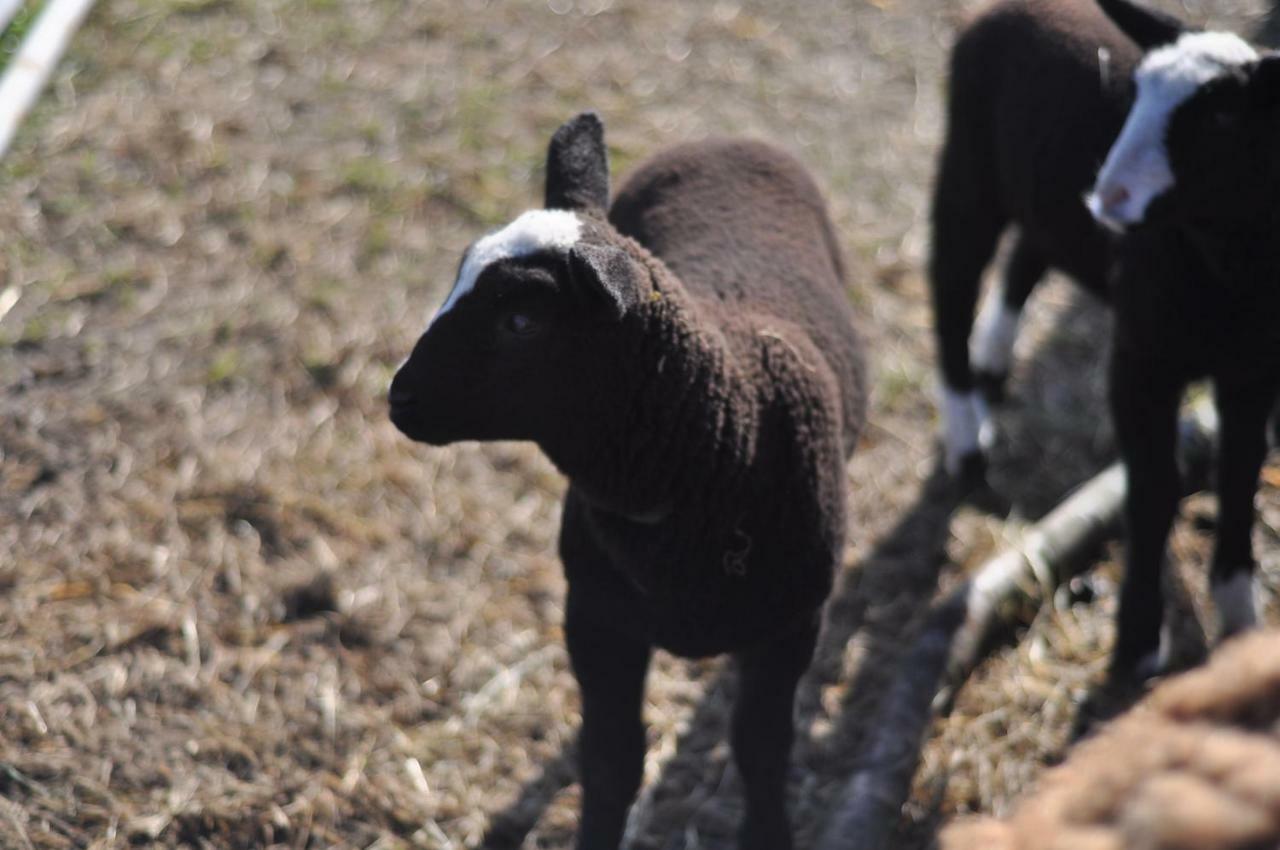
<svg viewBox="0 0 1280 850">
<path fill-rule="evenodd" d="M 596 508 L 659 522 L 754 453 L 758 411 L 717 323 L 669 275 L 627 323 L 595 429 L 552 460 Z"/>
</svg>

